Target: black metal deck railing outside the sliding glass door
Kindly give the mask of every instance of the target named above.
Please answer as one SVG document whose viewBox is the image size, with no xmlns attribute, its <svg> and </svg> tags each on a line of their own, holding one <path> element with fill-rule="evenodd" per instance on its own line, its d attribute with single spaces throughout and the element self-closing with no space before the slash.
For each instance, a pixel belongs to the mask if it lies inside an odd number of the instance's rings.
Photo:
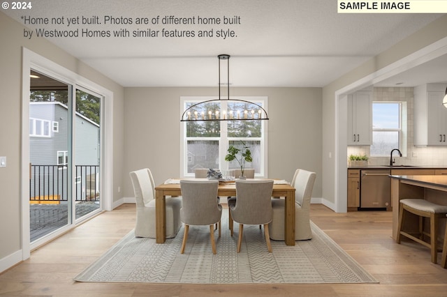
<svg viewBox="0 0 447 297">
<path fill-rule="evenodd" d="M 29 201 L 31 204 L 59 204 L 68 201 L 66 165 L 30 165 Z M 75 201 L 99 200 L 99 166 L 76 165 L 73 184 Z"/>
</svg>

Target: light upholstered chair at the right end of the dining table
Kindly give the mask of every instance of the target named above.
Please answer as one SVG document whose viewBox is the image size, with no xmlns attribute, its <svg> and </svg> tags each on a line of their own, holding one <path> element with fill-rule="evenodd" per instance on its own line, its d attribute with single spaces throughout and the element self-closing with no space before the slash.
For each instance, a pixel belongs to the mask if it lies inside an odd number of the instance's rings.
<svg viewBox="0 0 447 297">
<path fill-rule="evenodd" d="M 312 238 L 310 229 L 310 200 L 314 188 L 316 174 L 303 169 L 295 172 L 295 241 Z M 284 241 L 284 207 L 285 199 L 272 199 L 273 220 L 269 225 L 270 238 Z"/>
</svg>

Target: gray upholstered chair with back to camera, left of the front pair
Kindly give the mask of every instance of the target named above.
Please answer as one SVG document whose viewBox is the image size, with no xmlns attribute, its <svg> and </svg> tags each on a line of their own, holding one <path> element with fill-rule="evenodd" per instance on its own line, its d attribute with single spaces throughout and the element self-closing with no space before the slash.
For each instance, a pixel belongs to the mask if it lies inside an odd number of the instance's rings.
<svg viewBox="0 0 447 297">
<path fill-rule="evenodd" d="M 222 206 L 216 199 L 218 187 L 219 181 L 180 181 L 183 199 L 180 219 L 184 223 L 184 236 L 180 253 L 184 253 L 190 225 L 209 225 L 212 252 L 216 254 L 214 224 L 219 223 L 220 237 L 222 215 Z"/>
</svg>

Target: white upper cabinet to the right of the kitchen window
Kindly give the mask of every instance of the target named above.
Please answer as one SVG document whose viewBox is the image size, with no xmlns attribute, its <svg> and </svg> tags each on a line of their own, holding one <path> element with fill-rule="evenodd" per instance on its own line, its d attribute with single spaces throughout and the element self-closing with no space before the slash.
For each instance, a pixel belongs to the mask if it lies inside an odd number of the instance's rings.
<svg viewBox="0 0 447 297">
<path fill-rule="evenodd" d="M 445 84 L 424 84 L 414 91 L 414 145 L 447 146 Z"/>
</svg>

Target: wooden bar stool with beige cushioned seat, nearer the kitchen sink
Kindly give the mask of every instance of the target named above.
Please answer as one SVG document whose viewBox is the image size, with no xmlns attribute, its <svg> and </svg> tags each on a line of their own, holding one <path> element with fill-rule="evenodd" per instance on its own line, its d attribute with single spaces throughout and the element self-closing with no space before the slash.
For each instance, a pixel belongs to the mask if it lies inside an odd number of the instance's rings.
<svg viewBox="0 0 447 297">
<path fill-rule="evenodd" d="M 413 236 L 406 231 L 402 231 L 402 225 L 404 222 L 406 212 L 413 213 L 419 216 L 419 232 L 418 236 Z M 447 206 L 442 206 L 439 204 L 434 204 L 425 199 L 402 199 L 400 200 L 399 209 L 399 224 L 397 226 L 397 243 L 400 243 L 401 236 L 412 239 L 427 248 L 430 248 L 432 252 L 432 262 L 437 263 L 437 235 L 438 235 L 438 220 L 439 218 L 446 218 Z M 424 236 L 424 219 L 430 218 L 430 243 L 423 241 Z M 446 244 L 444 243 L 444 246 Z M 444 248 L 444 252 L 445 252 Z M 443 253 L 444 254 L 444 253 Z"/>
</svg>

